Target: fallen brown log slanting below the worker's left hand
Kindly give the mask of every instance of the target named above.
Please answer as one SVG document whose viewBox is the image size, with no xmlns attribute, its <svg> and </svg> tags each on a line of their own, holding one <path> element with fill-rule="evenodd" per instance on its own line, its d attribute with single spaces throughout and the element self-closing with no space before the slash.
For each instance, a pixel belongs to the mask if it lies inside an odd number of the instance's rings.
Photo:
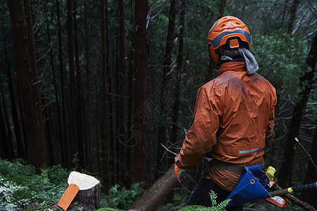
<svg viewBox="0 0 317 211">
<path fill-rule="evenodd" d="M 174 165 L 146 191 L 140 199 L 132 205 L 132 210 L 157 210 L 164 198 L 177 184 Z"/>
</svg>

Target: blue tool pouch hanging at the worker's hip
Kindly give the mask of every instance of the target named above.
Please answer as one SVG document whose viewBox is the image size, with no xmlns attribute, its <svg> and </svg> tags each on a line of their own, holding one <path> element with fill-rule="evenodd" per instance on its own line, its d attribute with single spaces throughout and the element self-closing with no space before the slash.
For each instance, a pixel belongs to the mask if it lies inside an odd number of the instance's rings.
<svg viewBox="0 0 317 211">
<path fill-rule="evenodd" d="M 240 181 L 226 199 L 231 199 L 228 206 L 243 205 L 252 201 L 271 198 L 269 195 L 268 175 L 262 170 L 262 165 L 247 166 L 247 171 L 240 176 Z"/>
</svg>

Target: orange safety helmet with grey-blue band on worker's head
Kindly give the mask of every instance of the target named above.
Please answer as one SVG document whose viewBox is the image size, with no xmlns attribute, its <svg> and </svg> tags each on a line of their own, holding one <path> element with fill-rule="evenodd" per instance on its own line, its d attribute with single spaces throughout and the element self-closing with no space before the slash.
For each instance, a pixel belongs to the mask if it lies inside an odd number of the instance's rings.
<svg viewBox="0 0 317 211">
<path fill-rule="evenodd" d="M 250 51 L 251 35 L 245 23 L 239 18 L 225 16 L 212 25 L 208 33 L 208 51 L 214 66 L 220 65 L 219 49 L 226 46 L 230 49 L 244 47 Z"/>
</svg>

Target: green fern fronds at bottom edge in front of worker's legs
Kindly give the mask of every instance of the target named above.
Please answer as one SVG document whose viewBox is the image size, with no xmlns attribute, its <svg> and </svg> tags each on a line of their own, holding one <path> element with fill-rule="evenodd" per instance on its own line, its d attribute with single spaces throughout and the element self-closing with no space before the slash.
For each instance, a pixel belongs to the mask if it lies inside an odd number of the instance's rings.
<svg viewBox="0 0 317 211">
<path fill-rule="evenodd" d="M 205 207 L 202 205 L 188 205 L 179 211 L 223 211 L 226 209 L 226 206 L 230 202 L 231 199 L 224 200 L 223 202 L 216 204 L 216 193 L 214 191 L 210 191 L 210 199 L 212 200 L 212 207 Z"/>
</svg>

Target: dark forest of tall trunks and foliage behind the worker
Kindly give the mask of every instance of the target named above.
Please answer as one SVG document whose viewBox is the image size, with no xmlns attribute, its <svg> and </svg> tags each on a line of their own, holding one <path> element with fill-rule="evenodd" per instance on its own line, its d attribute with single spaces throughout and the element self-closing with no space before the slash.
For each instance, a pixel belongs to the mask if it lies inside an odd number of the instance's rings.
<svg viewBox="0 0 317 211">
<path fill-rule="evenodd" d="M 169 151 L 179 152 L 199 87 L 219 75 L 207 32 L 233 15 L 249 28 L 258 72 L 278 95 L 266 163 L 280 186 L 316 182 L 316 7 L 304 0 L 1 1 L 0 158 L 90 172 L 105 191 L 150 186 L 174 162 Z M 302 198 L 316 205 L 316 191 Z"/>
</svg>

